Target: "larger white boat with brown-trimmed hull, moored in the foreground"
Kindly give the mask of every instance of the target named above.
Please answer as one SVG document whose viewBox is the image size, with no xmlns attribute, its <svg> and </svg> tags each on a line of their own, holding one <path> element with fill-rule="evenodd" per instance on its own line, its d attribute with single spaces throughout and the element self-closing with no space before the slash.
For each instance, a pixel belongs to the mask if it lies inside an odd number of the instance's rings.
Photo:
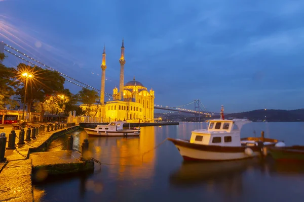
<svg viewBox="0 0 304 202">
<path fill-rule="evenodd" d="M 241 138 L 247 119 L 211 120 L 208 129 L 192 131 L 190 140 L 168 138 L 179 150 L 185 161 L 227 161 L 267 155 L 267 147 L 279 141 L 262 137 Z"/>
</svg>

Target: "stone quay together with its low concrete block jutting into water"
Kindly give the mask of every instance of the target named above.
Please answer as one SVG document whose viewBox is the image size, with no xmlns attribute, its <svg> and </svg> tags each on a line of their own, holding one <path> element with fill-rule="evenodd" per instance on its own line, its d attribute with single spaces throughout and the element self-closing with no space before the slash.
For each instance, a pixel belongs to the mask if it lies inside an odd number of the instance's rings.
<svg viewBox="0 0 304 202">
<path fill-rule="evenodd" d="M 16 149 L 7 149 L 6 161 L 0 163 L 0 199 L 1 201 L 33 201 L 32 179 L 42 180 L 48 175 L 74 173 L 79 171 L 93 170 L 93 161 L 82 161 L 78 151 L 46 151 L 47 146 L 60 136 L 70 134 L 78 130 L 79 126 L 72 126 L 56 131 L 41 131 L 35 139 L 24 141 Z M 0 129 L 6 132 L 7 139 L 12 126 Z M 20 130 L 15 130 L 19 136 Z M 8 144 L 6 145 L 8 146 Z"/>
</svg>

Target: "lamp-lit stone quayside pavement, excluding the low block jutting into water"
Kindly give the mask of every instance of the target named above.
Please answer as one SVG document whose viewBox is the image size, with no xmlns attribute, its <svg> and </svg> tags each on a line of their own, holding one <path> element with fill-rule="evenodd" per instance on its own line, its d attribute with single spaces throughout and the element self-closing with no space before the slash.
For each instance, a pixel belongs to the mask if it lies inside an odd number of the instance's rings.
<svg viewBox="0 0 304 202">
<path fill-rule="evenodd" d="M 21 145 L 20 147 L 17 145 L 16 149 L 6 150 L 5 157 L 7 158 L 7 162 L 0 163 L 0 201 L 33 201 L 31 185 L 33 158 L 25 159 L 29 156 L 30 149 L 36 150 L 37 147 L 40 147 L 40 150 L 43 151 L 47 145 L 50 144 L 53 139 L 60 136 L 60 134 L 71 133 L 73 129 L 77 128 L 78 127 L 70 127 L 68 129 L 42 132 L 36 136 L 36 139 L 25 141 L 27 144 Z M 5 126 L 5 129 L 0 129 L 0 133 L 5 132 L 8 140 L 11 130 L 12 125 L 8 125 Z M 20 130 L 15 131 L 17 136 L 19 136 Z M 17 143 L 18 138 L 16 138 L 16 144 Z"/>
</svg>

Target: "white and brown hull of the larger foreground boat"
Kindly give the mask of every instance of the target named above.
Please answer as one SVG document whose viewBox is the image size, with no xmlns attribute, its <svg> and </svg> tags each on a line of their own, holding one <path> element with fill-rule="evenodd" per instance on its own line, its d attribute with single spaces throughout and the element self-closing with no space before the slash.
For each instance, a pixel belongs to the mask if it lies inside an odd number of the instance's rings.
<svg viewBox="0 0 304 202">
<path fill-rule="evenodd" d="M 190 143 L 185 140 L 168 138 L 179 150 L 184 161 L 232 161 L 260 156 L 261 148 L 248 146 L 252 153 L 245 153 L 246 146 L 216 146 Z"/>
</svg>

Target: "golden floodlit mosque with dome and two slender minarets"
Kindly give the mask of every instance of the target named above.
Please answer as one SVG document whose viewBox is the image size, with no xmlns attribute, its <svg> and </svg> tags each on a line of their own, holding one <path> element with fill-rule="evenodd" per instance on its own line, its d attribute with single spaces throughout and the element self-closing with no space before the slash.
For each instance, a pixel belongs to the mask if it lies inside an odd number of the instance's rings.
<svg viewBox="0 0 304 202">
<path fill-rule="evenodd" d="M 113 100 L 104 102 L 105 89 L 105 47 L 103 48 L 102 64 L 101 64 L 101 90 L 100 90 L 100 106 L 92 106 L 98 113 L 101 122 L 110 121 L 127 121 L 129 123 L 154 122 L 154 90 L 147 88 L 139 81 L 128 81 L 124 84 L 124 66 L 125 61 L 125 46 L 124 39 L 121 47 L 120 57 L 120 82 L 119 89 L 113 89 Z M 82 107 L 82 106 L 81 106 Z"/>
</svg>

